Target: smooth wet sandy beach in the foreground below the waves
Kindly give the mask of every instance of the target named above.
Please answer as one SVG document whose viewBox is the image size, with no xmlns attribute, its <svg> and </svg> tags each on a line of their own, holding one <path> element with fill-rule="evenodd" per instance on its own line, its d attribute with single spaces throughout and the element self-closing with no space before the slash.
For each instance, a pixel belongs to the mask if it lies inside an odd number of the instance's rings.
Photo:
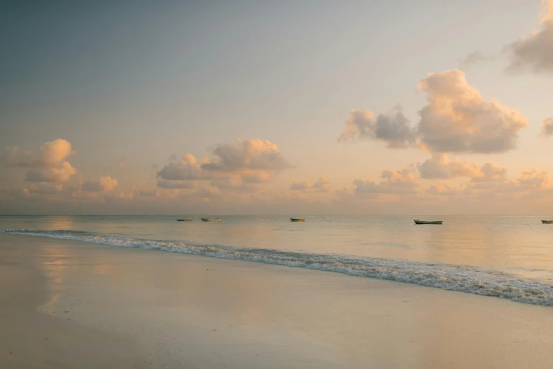
<svg viewBox="0 0 553 369">
<path fill-rule="evenodd" d="M 551 307 L 0 235 L 1 368 L 551 368 Z"/>
</svg>

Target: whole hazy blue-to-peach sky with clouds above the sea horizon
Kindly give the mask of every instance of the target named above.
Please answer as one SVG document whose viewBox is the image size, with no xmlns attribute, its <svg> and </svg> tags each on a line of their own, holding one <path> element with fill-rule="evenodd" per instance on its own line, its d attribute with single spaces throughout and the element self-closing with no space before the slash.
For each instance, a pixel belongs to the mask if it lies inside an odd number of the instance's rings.
<svg viewBox="0 0 553 369">
<path fill-rule="evenodd" d="M 553 214 L 553 0 L 3 1 L 0 214 Z"/>
</svg>

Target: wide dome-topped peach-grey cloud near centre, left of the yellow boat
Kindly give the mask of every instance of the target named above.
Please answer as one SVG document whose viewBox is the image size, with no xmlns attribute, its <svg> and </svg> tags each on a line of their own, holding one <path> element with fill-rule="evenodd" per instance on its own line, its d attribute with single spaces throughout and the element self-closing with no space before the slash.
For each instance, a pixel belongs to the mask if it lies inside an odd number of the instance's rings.
<svg viewBox="0 0 553 369">
<path fill-rule="evenodd" d="M 214 161 L 201 168 L 210 171 L 236 172 L 240 170 L 284 170 L 292 165 L 283 158 L 278 147 L 270 141 L 238 139 L 234 144 L 215 146 Z"/>
</svg>

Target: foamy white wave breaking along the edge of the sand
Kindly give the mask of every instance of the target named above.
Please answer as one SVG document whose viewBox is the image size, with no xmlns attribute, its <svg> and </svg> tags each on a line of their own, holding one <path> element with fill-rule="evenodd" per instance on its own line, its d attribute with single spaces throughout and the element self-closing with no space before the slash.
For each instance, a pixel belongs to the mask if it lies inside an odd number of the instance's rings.
<svg viewBox="0 0 553 369">
<path fill-rule="evenodd" d="M 32 235 L 61 240 L 77 240 L 117 247 L 135 247 L 166 252 L 196 254 L 221 259 L 278 264 L 297 268 L 334 271 L 388 281 L 414 283 L 475 295 L 506 298 L 519 303 L 553 306 L 553 285 L 479 266 L 412 262 L 403 259 L 348 257 L 338 254 L 314 254 L 280 250 L 197 245 L 169 240 L 141 240 L 74 230 L 7 229 L 0 233 Z"/>
</svg>

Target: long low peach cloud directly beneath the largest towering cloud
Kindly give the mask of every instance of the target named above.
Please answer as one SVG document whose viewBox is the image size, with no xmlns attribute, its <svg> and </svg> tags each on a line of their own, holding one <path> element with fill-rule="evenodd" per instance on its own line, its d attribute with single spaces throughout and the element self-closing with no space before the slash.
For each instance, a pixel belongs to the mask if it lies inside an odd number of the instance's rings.
<svg viewBox="0 0 553 369">
<path fill-rule="evenodd" d="M 429 180 L 469 177 L 474 182 L 489 182 L 503 181 L 506 178 L 506 169 L 494 163 L 480 166 L 476 163 L 449 160 L 446 154 L 433 154 L 432 158 L 418 165 L 418 168 L 420 177 Z"/>
</svg>

